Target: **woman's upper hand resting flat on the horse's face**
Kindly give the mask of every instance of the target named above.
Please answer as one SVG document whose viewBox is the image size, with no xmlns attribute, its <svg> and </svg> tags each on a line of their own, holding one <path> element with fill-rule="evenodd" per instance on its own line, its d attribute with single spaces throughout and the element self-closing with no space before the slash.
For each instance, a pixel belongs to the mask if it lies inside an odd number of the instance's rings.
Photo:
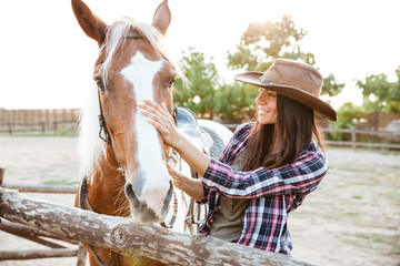
<svg viewBox="0 0 400 266">
<path fill-rule="evenodd" d="M 180 134 L 177 131 L 171 114 L 168 112 L 166 103 L 160 105 L 153 101 L 143 100 L 143 103 L 138 102 L 138 106 L 149 123 L 160 132 L 164 143 L 174 147 L 174 144 L 180 139 Z"/>
</svg>

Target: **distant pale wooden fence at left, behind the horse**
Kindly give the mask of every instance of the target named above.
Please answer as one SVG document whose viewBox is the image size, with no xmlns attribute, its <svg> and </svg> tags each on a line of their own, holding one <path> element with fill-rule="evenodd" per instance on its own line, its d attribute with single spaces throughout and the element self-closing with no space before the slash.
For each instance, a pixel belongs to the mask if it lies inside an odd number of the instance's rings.
<svg viewBox="0 0 400 266">
<path fill-rule="evenodd" d="M 0 134 L 74 133 L 80 109 L 0 110 Z"/>
</svg>

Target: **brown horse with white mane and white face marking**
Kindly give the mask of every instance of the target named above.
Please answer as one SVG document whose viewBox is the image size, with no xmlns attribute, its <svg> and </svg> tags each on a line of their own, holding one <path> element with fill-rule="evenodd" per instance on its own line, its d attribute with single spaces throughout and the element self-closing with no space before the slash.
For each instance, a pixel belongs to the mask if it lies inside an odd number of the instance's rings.
<svg viewBox="0 0 400 266">
<path fill-rule="evenodd" d="M 188 196 L 173 188 L 166 166 L 173 152 L 137 105 L 143 99 L 164 102 L 177 123 L 184 114 L 182 111 L 181 116 L 177 115 L 178 109 L 172 103 L 179 68 L 162 44 L 171 21 L 168 0 L 157 8 L 151 24 L 130 18 L 107 24 L 81 0 L 71 0 L 71 6 L 83 32 L 99 45 L 93 71 L 96 85 L 89 92 L 79 124 L 83 178 L 76 207 L 186 231 L 188 204 L 182 198 Z M 194 122 L 192 126 L 200 125 Z M 217 127 L 212 125 L 208 130 Z M 206 135 L 207 130 L 202 133 Z M 220 146 L 228 143 L 228 135 L 226 132 L 199 143 L 207 146 L 204 150 L 221 153 Z M 222 145 L 214 145 L 218 142 Z M 168 218 L 174 223 L 166 223 Z M 127 257 L 106 248 L 83 246 L 90 265 L 162 265 L 146 257 Z"/>
</svg>

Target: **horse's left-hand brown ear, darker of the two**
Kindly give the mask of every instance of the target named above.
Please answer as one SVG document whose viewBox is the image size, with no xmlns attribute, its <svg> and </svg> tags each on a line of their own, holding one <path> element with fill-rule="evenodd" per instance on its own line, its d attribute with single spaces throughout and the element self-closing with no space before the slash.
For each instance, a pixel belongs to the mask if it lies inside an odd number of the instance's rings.
<svg viewBox="0 0 400 266">
<path fill-rule="evenodd" d="M 104 42 L 107 24 L 92 13 L 81 0 L 71 0 L 73 13 L 84 33 L 97 41 L 99 45 Z"/>
</svg>

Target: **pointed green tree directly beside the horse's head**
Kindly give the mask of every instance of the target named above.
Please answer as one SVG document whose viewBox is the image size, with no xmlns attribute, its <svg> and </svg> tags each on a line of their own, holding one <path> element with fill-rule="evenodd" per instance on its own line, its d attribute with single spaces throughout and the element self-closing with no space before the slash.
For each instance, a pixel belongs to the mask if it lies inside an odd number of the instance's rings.
<svg viewBox="0 0 400 266">
<path fill-rule="evenodd" d="M 190 82 L 190 89 L 186 89 L 182 80 L 178 80 L 174 85 L 177 93 L 173 95 L 173 102 L 192 110 L 201 117 L 208 114 L 212 119 L 214 94 L 219 85 L 216 65 L 207 62 L 204 54 L 196 51 L 194 48 L 189 48 L 188 52 L 183 52 L 181 64 Z"/>
</svg>

